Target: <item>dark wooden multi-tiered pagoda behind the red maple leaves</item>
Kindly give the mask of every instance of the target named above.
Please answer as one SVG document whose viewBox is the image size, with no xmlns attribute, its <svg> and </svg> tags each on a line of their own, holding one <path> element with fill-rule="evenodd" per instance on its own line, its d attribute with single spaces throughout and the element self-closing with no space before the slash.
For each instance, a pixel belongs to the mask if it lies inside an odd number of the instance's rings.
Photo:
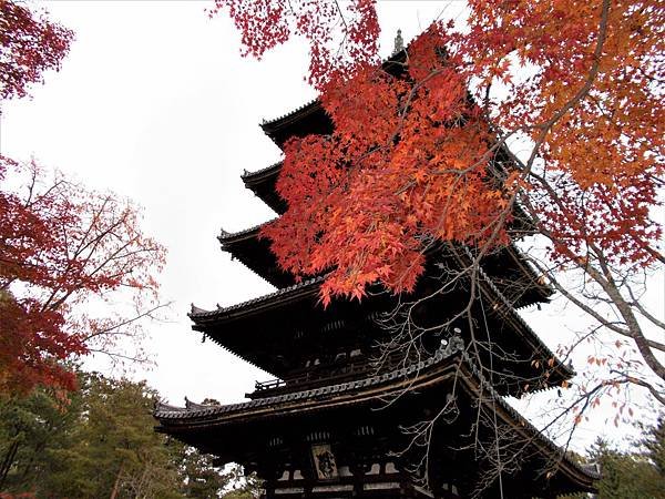
<svg viewBox="0 0 665 499">
<path fill-rule="evenodd" d="M 283 146 L 291 136 L 329 133 L 332 123 L 315 101 L 262 126 Z M 275 191 L 280 166 L 243 175 L 277 214 L 286 210 Z M 417 348 L 405 353 L 387 346 L 392 332 L 380 322 L 399 297 L 377 293 L 324 309 L 323 277 L 296 283 L 258 238 L 259 228 L 223 232 L 219 242 L 277 291 L 214 310 L 193 306 L 190 317 L 194 330 L 275 379 L 256 383 L 239 404 L 160 405 L 158 431 L 215 455 L 221 465 L 235 461 L 256 471 L 266 499 L 500 497 L 500 490 L 501 497 L 531 498 L 593 490 L 596 475 L 503 399 L 573 375 L 515 312 L 551 293 L 515 247 L 482 261 L 473 333 L 459 320 L 421 335 Z M 428 258 L 412 297 L 431 294 L 444 278 L 442 268 L 469 263 L 441 249 Z M 468 287 L 458 286 L 416 312 L 421 320 L 442 323 L 469 296 Z M 490 347 L 470 352 L 471 334 Z"/>
</svg>

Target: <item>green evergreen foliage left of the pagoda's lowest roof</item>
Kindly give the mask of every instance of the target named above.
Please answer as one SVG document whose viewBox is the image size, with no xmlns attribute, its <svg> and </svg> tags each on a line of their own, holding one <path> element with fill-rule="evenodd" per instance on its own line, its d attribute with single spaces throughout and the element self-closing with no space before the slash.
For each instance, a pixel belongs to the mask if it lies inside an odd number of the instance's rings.
<svg viewBox="0 0 665 499">
<path fill-rule="evenodd" d="M 80 375 L 69 400 L 38 389 L 0 400 L 0 497 L 250 499 L 256 480 L 154 431 L 156 390 Z"/>
</svg>

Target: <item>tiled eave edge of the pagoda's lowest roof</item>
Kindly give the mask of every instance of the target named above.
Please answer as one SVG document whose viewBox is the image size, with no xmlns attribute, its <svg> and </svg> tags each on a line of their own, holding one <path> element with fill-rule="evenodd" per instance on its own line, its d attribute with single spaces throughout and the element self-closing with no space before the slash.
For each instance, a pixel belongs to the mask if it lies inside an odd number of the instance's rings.
<svg viewBox="0 0 665 499">
<path fill-rule="evenodd" d="M 234 424 L 243 424 L 246 427 L 249 421 L 266 418 L 297 417 L 303 413 L 386 400 L 390 394 L 399 394 L 405 387 L 409 390 L 422 390 L 453 377 L 458 383 L 460 379 L 464 381 L 458 386 L 479 399 L 487 409 L 492 410 L 495 407 L 497 415 L 503 422 L 526 434 L 530 446 L 536 447 L 539 454 L 550 459 L 552 457 L 561 459 L 557 472 L 562 472 L 567 480 L 584 490 L 594 490 L 593 481 L 598 479 L 598 475 L 574 462 L 513 409 L 474 367 L 472 359 L 463 349 L 463 344 L 454 340 L 426 360 L 382 375 L 231 405 L 203 406 L 190 401 L 184 408 L 157 405 L 154 416 L 160 421 L 160 431 L 187 442 L 190 436 L 195 438 L 196 434 L 213 427 L 222 431 L 228 427 L 228 431 L 235 431 Z M 480 394 L 483 394 L 482 397 Z"/>
</svg>

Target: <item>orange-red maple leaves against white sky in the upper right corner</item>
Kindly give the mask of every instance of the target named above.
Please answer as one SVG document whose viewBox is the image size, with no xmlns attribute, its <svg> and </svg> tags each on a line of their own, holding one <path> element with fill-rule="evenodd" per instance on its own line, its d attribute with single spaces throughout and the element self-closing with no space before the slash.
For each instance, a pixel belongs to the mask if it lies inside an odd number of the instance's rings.
<svg viewBox="0 0 665 499">
<path fill-rule="evenodd" d="M 525 189 L 552 255 L 583 259 L 596 247 L 623 266 L 652 263 L 662 230 L 649 214 L 665 171 L 662 2 L 470 7 L 473 72 L 507 85 L 508 98 L 490 102 L 494 125 L 541 144 Z M 530 75 L 509 78 L 520 70 Z"/>
</svg>

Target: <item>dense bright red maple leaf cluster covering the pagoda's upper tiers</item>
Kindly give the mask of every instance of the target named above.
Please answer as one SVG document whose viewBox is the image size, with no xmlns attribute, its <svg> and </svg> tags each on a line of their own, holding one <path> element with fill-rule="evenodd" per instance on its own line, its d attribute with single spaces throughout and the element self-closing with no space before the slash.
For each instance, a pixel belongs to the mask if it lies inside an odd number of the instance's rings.
<svg viewBox="0 0 665 499">
<path fill-rule="evenodd" d="M 413 41 L 406 73 L 366 64 L 332 79 L 323 102 L 334 133 L 285 146 L 277 191 L 288 210 L 263 235 L 284 268 L 329 272 L 324 304 L 378 281 L 412 289 L 427 242 L 485 241 L 505 206 L 488 179 L 488 126 L 438 29 Z"/>
</svg>

